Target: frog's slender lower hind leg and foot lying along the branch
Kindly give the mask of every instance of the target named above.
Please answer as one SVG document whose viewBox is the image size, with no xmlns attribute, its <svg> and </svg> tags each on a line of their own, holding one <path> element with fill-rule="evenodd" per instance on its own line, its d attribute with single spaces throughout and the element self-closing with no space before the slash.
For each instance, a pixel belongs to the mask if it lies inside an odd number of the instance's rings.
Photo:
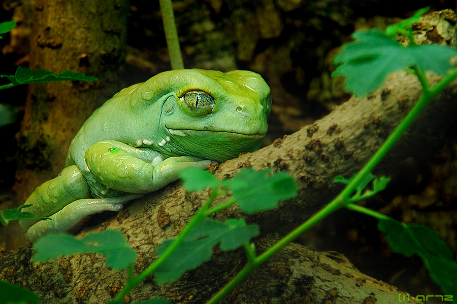
<svg viewBox="0 0 457 304">
<path fill-rule="evenodd" d="M 63 207 L 59 212 L 50 216 L 51 220 L 39 221 L 29 227 L 25 237 L 30 242 L 35 242 L 41 236 L 65 232 L 84 222 L 87 216 L 103 211 L 119 211 L 123 204 L 142 197 L 138 194 L 128 194 L 114 198 L 81 199 Z"/>
</svg>

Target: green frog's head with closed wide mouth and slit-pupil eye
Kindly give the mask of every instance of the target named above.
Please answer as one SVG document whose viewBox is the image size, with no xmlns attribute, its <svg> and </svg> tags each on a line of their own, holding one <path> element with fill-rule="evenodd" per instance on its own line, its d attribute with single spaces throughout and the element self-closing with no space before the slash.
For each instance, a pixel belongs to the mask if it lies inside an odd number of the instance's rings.
<svg viewBox="0 0 457 304">
<path fill-rule="evenodd" d="M 259 74 L 192 69 L 159 75 L 167 81 L 158 126 L 167 139 L 164 154 L 222 162 L 258 149 L 271 111 L 270 88 Z"/>
</svg>

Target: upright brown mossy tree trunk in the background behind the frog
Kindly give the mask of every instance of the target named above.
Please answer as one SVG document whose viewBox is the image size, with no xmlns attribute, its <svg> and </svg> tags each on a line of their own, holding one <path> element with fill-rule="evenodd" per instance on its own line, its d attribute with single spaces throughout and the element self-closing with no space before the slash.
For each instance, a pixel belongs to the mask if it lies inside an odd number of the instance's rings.
<svg viewBox="0 0 457 304">
<path fill-rule="evenodd" d="M 14 191 L 21 205 L 64 166 L 70 142 L 93 110 L 119 91 L 126 57 L 127 0 L 37 0 L 30 37 L 30 68 L 72 70 L 95 82 L 30 85 L 18 139 Z M 4 234 L 9 248 L 25 239 L 17 223 Z"/>
</svg>

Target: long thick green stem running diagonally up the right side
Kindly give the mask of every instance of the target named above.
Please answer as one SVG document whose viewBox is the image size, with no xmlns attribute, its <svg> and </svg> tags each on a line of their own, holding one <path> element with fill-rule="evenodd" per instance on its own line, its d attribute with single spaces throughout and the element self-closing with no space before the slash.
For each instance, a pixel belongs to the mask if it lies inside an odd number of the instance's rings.
<svg viewBox="0 0 457 304">
<path fill-rule="evenodd" d="M 348 205 L 350 196 L 355 191 L 358 184 L 360 184 L 366 176 L 374 169 L 374 167 L 381 161 L 381 159 L 387 154 L 391 147 L 400 139 L 403 133 L 411 126 L 414 120 L 417 118 L 419 113 L 423 108 L 430 103 L 430 101 L 435 97 L 439 92 L 441 92 L 444 87 L 449 84 L 452 80 L 457 77 L 457 69 L 452 71 L 447 77 L 445 77 L 440 83 L 438 83 L 434 88 L 430 89 L 429 82 L 420 68 L 416 65 L 413 67 L 417 78 L 423 88 L 422 95 L 408 115 L 403 119 L 402 123 L 395 129 L 395 131 L 390 134 L 387 140 L 382 144 L 382 146 L 376 151 L 374 156 L 370 161 L 351 179 L 351 182 L 346 185 L 343 191 L 333 199 L 329 204 L 324 208 L 312 215 L 308 220 L 298 226 L 295 230 L 290 232 L 284 238 L 279 240 L 275 245 L 270 247 L 263 254 L 255 257 L 254 259 L 249 259 L 246 266 L 230 281 L 225 285 L 219 292 L 214 295 L 207 304 L 215 304 L 219 302 L 225 295 L 232 291 L 241 281 L 243 281 L 250 273 L 252 273 L 256 268 L 261 264 L 266 262 L 271 258 L 275 253 L 284 248 L 286 245 L 297 239 L 305 231 L 309 230 L 314 224 L 321 221 L 327 217 L 332 212 L 338 210 L 341 207 L 349 207 L 349 209 L 356 210 L 359 212 L 364 212 L 369 215 L 373 215 L 377 218 L 381 218 L 382 214 L 377 213 L 376 211 L 368 212 L 364 207 L 356 205 Z M 362 210 L 364 209 L 364 210 Z"/>
</svg>

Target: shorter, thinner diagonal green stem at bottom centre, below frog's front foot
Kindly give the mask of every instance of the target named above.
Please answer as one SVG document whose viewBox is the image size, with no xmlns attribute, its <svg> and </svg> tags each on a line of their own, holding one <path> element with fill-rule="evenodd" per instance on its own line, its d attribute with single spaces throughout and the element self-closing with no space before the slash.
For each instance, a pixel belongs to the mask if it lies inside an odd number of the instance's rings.
<svg viewBox="0 0 457 304">
<path fill-rule="evenodd" d="M 124 296 L 127 295 L 130 290 L 132 290 L 135 286 L 143 282 L 147 277 L 149 277 L 165 260 L 175 251 L 175 249 L 181 244 L 184 238 L 189 234 L 192 228 L 203 218 L 205 217 L 206 210 L 211 206 L 214 202 L 214 199 L 218 196 L 219 189 L 213 189 L 211 196 L 209 197 L 208 201 L 205 205 L 200 209 L 200 211 L 195 214 L 192 220 L 186 225 L 185 229 L 181 232 L 178 238 L 167 248 L 167 250 L 162 254 L 154 263 L 152 263 L 148 269 L 142 272 L 138 277 L 129 281 L 127 285 L 119 292 L 119 294 L 114 298 L 114 301 L 121 302 Z"/>
</svg>

